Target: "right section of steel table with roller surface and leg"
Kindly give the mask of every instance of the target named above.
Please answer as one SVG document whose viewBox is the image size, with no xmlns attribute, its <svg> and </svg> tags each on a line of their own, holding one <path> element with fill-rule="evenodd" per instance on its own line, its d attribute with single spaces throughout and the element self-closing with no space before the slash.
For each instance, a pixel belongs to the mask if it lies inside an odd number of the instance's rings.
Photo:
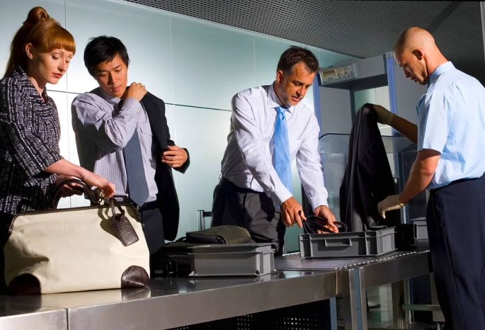
<svg viewBox="0 0 485 330">
<path fill-rule="evenodd" d="M 337 295 L 342 295 L 344 303 L 345 329 L 367 329 L 367 288 L 396 284 L 432 272 L 428 245 L 421 242 L 414 250 L 391 252 L 382 257 L 301 259 L 299 254 L 292 254 L 277 257 L 275 266 L 278 270 L 335 270 Z M 393 289 L 395 293 L 403 292 L 402 284 L 394 285 Z M 394 315 L 398 313 L 396 309 Z"/>
</svg>

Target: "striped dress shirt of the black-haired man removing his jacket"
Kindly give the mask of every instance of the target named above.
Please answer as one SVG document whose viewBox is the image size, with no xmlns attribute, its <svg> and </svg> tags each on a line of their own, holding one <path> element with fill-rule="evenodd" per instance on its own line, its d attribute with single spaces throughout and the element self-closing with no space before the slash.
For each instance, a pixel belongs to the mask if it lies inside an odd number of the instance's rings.
<svg viewBox="0 0 485 330">
<path fill-rule="evenodd" d="M 150 121 L 139 101 L 134 98 L 127 98 L 122 104 L 120 101 L 99 87 L 74 98 L 71 110 L 79 162 L 112 182 L 116 196 L 129 196 L 123 148 L 136 129 L 143 159 L 140 166 L 148 184 L 146 202 L 150 202 L 157 199 L 158 193 Z"/>
</svg>

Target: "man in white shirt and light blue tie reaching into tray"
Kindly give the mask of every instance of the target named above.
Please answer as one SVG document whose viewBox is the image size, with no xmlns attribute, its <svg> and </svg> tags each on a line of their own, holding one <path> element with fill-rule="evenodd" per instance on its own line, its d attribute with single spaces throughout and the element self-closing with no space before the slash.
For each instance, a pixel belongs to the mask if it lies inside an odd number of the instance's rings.
<svg viewBox="0 0 485 330">
<path fill-rule="evenodd" d="M 288 177 L 288 166 L 295 158 L 314 214 L 326 219 L 328 228 L 337 232 L 335 216 L 328 208 L 317 148 L 319 125 L 312 110 L 300 103 L 318 68 L 313 53 L 292 46 L 281 55 L 272 85 L 246 89 L 232 99 L 222 178 L 214 191 L 213 225 L 245 227 L 254 241 L 273 243 L 279 254 L 283 250 L 285 226 L 302 227 L 302 221 L 306 220 L 301 205 L 292 195 Z M 281 131 L 279 125 L 284 126 L 286 146 L 276 141 L 279 138 L 275 131 Z M 285 148 L 288 151 L 283 159 L 288 164 L 283 171 L 286 174 L 282 175 L 276 165 L 279 161 L 275 150 L 279 153 Z"/>
</svg>

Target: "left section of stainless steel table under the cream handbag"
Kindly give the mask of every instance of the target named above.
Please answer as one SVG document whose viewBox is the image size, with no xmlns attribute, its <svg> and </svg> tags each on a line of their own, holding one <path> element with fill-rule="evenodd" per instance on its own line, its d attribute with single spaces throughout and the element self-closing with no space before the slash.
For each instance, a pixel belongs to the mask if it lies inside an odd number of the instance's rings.
<svg viewBox="0 0 485 330">
<path fill-rule="evenodd" d="M 335 270 L 284 270 L 255 278 L 159 277 L 140 290 L 0 296 L 0 306 L 30 306 L 32 313 L 64 309 L 67 327 L 62 329 L 69 330 L 168 329 L 328 299 L 337 295 L 336 282 Z M 29 328 L 32 324 L 10 329 Z"/>
</svg>

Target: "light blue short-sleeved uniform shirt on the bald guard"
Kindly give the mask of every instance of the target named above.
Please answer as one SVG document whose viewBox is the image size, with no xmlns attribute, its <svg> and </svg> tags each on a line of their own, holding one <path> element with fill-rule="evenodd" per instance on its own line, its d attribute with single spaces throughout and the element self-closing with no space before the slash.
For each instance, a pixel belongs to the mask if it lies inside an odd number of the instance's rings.
<svg viewBox="0 0 485 330">
<path fill-rule="evenodd" d="M 428 189 L 485 172 L 485 89 L 446 62 L 430 76 L 418 103 L 418 151 L 441 153 Z"/>
</svg>

